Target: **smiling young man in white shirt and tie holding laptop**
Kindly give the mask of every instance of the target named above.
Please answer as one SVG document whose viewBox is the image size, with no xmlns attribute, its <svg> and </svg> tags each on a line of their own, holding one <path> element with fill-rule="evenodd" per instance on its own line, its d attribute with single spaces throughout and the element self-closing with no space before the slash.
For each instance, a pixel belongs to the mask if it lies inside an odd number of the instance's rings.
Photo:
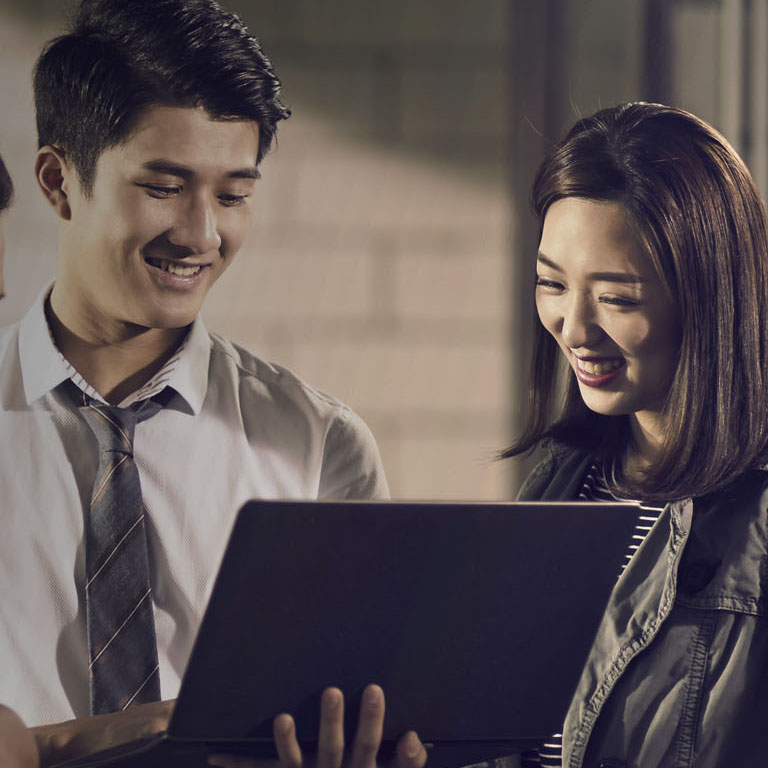
<svg viewBox="0 0 768 768">
<path fill-rule="evenodd" d="M 38 61 L 35 172 L 59 258 L 0 336 L 0 580 L 16 587 L 0 700 L 39 724 L 44 764 L 165 727 L 158 699 L 178 691 L 245 500 L 387 493 L 357 416 L 198 315 L 249 227 L 288 115 L 278 91 L 213 0 L 84 0 Z M 380 690 L 367 703 L 361 766 Z M 341 706 L 326 693 L 334 760 Z M 290 721 L 276 728 L 297 764 Z M 404 764 L 422 760 L 404 744 Z"/>
</svg>

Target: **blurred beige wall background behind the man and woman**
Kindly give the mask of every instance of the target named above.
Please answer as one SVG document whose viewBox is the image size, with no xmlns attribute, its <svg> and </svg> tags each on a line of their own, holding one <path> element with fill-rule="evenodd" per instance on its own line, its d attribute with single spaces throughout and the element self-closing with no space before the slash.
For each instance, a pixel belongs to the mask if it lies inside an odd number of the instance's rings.
<svg viewBox="0 0 768 768">
<path fill-rule="evenodd" d="M 206 321 L 361 413 L 395 497 L 509 498 L 525 470 L 494 453 L 525 411 L 528 187 L 575 118 L 625 100 L 685 107 L 765 189 L 768 0 L 224 4 L 262 39 L 293 116 Z M 0 152 L 18 186 L 2 323 L 54 271 L 30 72 L 67 7 L 0 0 Z"/>
</svg>

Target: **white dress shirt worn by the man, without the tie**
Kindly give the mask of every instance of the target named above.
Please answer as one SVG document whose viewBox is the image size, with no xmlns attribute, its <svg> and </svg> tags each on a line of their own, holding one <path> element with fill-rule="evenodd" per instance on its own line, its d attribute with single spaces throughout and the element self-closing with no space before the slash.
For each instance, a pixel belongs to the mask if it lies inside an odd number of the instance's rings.
<svg viewBox="0 0 768 768">
<path fill-rule="evenodd" d="M 29 725 L 88 714 L 83 520 L 98 464 L 44 298 L 0 331 L 0 701 Z M 172 390 L 136 427 L 163 698 L 178 693 L 239 507 L 381 498 L 376 444 L 345 405 L 206 331 L 121 405 Z M 96 396 L 94 391 L 91 395 Z"/>
</svg>

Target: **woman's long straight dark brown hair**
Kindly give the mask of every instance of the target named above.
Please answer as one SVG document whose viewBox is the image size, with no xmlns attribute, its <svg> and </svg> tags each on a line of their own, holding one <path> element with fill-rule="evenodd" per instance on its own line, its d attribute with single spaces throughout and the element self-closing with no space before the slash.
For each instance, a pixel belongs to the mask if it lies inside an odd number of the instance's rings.
<svg viewBox="0 0 768 768">
<path fill-rule="evenodd" d="M 543 226 L 556 200 L 614 201 L 679 308 L 679 363 L 664 407 L 665 439 L 635 498 L 700 496 L 765 458 L 768 442 L 768 236 L 760 194 L 713 128 L 682 110 L 625 104 L 580 120 L 541 165 L 531 203 Z M 542 439 L 621 456 L 624 416 L 590 411 L 556 341 L 535 320 L 528 424 L 504 456 Z"/>
</svg>

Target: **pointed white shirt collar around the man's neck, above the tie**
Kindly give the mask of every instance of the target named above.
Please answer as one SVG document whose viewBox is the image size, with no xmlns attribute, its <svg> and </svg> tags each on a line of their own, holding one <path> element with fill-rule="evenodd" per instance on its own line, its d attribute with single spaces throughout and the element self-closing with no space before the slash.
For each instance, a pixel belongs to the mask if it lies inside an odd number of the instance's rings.
<svg viewBox="0 0 768 768">
<path fill-rule="evenodd" d="M 27 405 L 55 389 L 63 381 L 75 378 L 71 373 L 73 369 L 67 365 L 67 361 L 53 343 L 45 318 L 45 302 L 52 287 L 52 283 L 46 286 L 19 324 L 19 359 Z M 183 398 L 193 414 L 197 414 L 208 388 L 210 355 L 210 337 L 202 318 L 198 315 L 171 360 L 121 405 L 130 405 L 151 397 L 167 386 Z M 82 377 L 80 382 L 75 381 L 75 384 L 85 391 L 88 385 L 86 383 L 84 387 L 83 383 Z"/>
</svg>

